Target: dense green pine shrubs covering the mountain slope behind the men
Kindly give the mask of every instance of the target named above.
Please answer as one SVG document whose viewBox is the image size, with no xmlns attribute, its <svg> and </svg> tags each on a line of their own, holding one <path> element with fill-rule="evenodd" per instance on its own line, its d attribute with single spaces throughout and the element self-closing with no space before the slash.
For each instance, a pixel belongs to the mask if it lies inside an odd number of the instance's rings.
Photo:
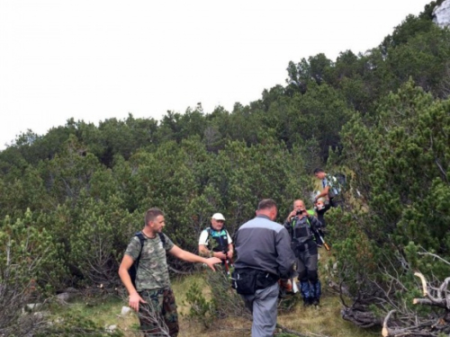
<svg viewBox="0 0 450 337">
<path fill-rule="evenodd" d="M 290 62 L 284 86 L 232 111 L 71 119 L 17 137 L 0 152 L 0 334 L 31 298 L 119 287 L 121 254 L 147 208 L 162 208 L 166 234 L 195 252 L 216 211 L 233 234 L 263 198 L 276 200 L 280 221 L 294 199 L 311 206 L 316 167 L 347 173 L 346 207 L 327 219 L 330 277 L 352 299 L 343 317 L 381 327 L 395 310 L 396 329 L 450 332 L 450 307 L 412 302 L 415 272 L 430 289 L 450 276 L 450 31 L 431 17 L 440 3 L 364 54 Z"/>
</svg>

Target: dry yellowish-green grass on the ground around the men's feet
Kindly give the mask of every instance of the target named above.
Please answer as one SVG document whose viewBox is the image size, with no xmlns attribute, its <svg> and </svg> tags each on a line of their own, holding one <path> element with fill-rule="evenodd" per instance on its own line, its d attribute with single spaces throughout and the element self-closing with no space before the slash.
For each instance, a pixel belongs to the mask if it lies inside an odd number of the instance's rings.
<svg viewBox="0 0 450 337">
<path fill-rule="evenodd" d="M 322 268 L 328 260 L 328 255 L 322 257 L 320 260 Z M 214 337 L 250 336 L 251 322 L 242 317 L 217 319 L 212 322 L 211 328 L 209 329 L 206 329 L 203 324 L 188 318 L 189 306 L 185 303 L 185 293 L 194 282 L 204 289 L 203 295 L 208 299 L 211 294 L 209 294 L 209 289 L 206 287 L 204 272 L 172 280 L 178 312 L 180 314 L 179 337 L 209 337 L 212 335 Z M 320 308 L 305 308 L 302 306 L 302 301 L 299 300 L 290 310 L 279 311 L 278 323 L 288 329 L 295 330 L 299 333 L 311 333 L 311 335 L 314 333 L 331 337 L 373 337 L 380 335 L 380 331 L 368 332 L 342 320 L 340 316 L 341 304 L 339 298 L 327 291 L 325 282 L 322 282 L 322 284 L 323 296 L 321 297 Z M 136 315 L 121 316 L 122 306 L 127 306 L 125 300 L 120 297 L 108 297 L 103 300 L 97 299 L 95 302 L 84 301 L 72 304 L 65 310 L 89 318 L 100 326 L 116 324 L 126 337 L 140 336 L 138 329 L 139 323 Z M 289 336 L 289 334 L 278 333 L 280 337 Z"/>
</svg>

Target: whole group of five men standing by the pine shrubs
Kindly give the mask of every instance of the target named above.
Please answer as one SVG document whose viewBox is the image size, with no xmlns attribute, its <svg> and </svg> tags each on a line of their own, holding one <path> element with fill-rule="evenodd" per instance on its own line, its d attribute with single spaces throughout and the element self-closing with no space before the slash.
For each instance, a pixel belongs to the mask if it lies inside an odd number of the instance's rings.
<svg viewBox="0 0 450 337">
<path fill-rule="evenodd" d="M 129 293 L 129 305 L 138 312 L 140 329 L 148 336 L 176 336 L 178 317 L 175 296 L 170 287 L 166 253 L 186 262 L 201 262 L 215 271 L 214 265 L 234 260 L 232 287 L 243 298 L 253 315 L 252 336 L 269 337 L 275 333 L 277 303 L 282 290 L 299 288 L 305 306 L 320 304 L 318 248 L 326 226 L 324 212 L 340 205 L 336 178 L 321 169 L 314 175 L 322 190 L 315 196 L 314 211 L 303 200 L 293 201 L 293 210 L 284 224 L 275 222 L 278 208 L 274 200 L 261 200 L 256 217 L 239 226 L 231 239 L 224 227 L 225 217 L 215 213 L 211 226 L 199 238 L 199 254 L 176 246 L 162 230 L 164 213 L 149 208 L 145 226 L 134 235 L 124 253 L 119 275 Z M 132 272 L 132 270 L 134 270 Z M 293 279 L 298 279 L 293 284 Z M 292 281 L 293 280 L 293 281 Z"/>
</svg>

